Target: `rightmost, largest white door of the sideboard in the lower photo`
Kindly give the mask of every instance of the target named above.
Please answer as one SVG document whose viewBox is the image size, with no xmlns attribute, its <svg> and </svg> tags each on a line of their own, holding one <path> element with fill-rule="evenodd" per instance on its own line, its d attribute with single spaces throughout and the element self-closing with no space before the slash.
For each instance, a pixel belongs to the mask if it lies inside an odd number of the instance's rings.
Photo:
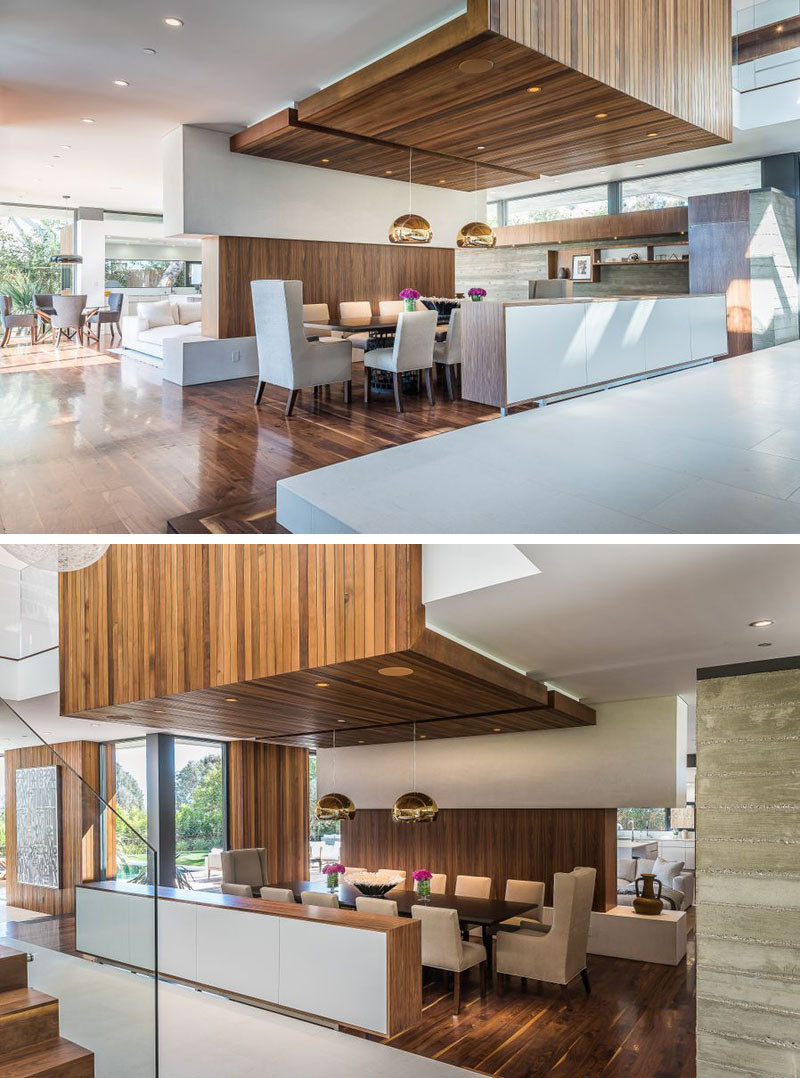
<svg viewBox="0 0 800 1078">
<path fill-rule="evenodd" d="M 386 1033 L 385 935 L 282 918 L 279 1003 Z"/>
</svg>

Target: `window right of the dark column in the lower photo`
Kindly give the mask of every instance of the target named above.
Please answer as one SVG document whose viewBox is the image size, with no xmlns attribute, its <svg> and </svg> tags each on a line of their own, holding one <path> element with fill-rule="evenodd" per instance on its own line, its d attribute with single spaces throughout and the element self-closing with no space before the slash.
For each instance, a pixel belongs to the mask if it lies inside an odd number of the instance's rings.
<svg viewBox="0 0 800 1078">
<path fill-rule="evenodd" d="M 175 738 L 176 863 L 187 883 L 224 846 L 222 751 L 219 742 Z"/>
</svg>

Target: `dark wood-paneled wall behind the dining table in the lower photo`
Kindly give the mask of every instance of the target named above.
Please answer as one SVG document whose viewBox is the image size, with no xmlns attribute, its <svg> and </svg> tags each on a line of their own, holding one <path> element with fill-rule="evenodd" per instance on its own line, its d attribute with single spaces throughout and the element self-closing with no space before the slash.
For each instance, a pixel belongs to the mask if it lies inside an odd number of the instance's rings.
<svg viewBox="0 0 800 1078">
<path fill-rule="evenodd" d="M 553 873 L 597 869 L 594 909 L 617 904 L 617 813 L 613 808 L 443 808 L 433 824 L 396 824 L 385 808 L 359 808 L 342 825 L 342 860 L 370 870 L 414 869 L 492 876 L 501 898 L 507 880 L 542 880 L 553 900 Z"/>
</svg>

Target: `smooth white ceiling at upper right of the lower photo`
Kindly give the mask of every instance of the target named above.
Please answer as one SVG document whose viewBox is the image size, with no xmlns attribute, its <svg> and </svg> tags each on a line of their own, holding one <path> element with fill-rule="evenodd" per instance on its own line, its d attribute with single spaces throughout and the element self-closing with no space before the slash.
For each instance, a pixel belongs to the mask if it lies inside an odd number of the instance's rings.
<svg viewBox="0 0 800 1078">
<path fill-rule="evenodd" d="M 520 550 L 537 576 L 428 604 L 428 625 L 589 703 L 691 703 L 699 667 L 800 654 L 796 544 Z"/>
</svg>

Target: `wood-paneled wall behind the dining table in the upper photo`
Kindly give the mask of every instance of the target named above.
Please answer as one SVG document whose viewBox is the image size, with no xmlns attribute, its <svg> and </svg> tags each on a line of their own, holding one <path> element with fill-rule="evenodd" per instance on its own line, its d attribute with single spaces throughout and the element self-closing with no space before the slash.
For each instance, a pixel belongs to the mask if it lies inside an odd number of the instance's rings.
<svg viewBox="0 0 800 1078">
<path fill-rule="evenodd" d="M 391 221 L 386 222 L 388 233 Z M 333 244 L 305 239 L 212 236 L 203 241 L 203 332 L 256 332 L 250 281 L 301 280 L 305 303 L 327 303 L 331 315 L 349 300 L 396 300 L 403 288 L 423 295 L 455 291 L 455 251 L 439 247 Z M 208 302 L 210 300 L 210 302 Z M 215 324 L 216 318 L 216 324 Z"/>
</svg>

